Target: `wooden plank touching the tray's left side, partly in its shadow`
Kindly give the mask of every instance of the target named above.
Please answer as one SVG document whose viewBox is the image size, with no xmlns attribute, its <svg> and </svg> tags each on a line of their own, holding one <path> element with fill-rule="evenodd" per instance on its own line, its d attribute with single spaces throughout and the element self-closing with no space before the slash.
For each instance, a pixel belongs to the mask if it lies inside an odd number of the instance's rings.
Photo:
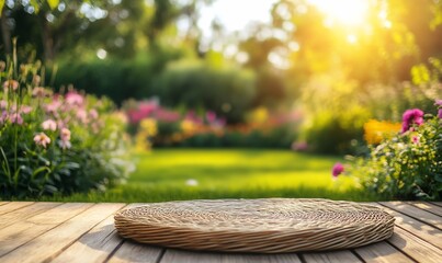
<svg viewBox="0 0 442 263">
<path fill-rule="evenodd" d="M 120 208 L 123 206 L 121 204 Z M 114 215 L 111 215 L 52 262 L 104 262 L 122 242 L 114 227 Z"/>
</svg>

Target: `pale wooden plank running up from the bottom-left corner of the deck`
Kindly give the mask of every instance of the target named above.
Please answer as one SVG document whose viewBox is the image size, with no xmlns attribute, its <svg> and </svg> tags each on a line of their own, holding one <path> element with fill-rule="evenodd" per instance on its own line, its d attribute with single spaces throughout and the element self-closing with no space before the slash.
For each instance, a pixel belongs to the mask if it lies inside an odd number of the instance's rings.
<svg viewBox="0 0 442 263">
<path fill-rule="evenodd" d="M 1 262 L 46 262 L 104 220 L 121 204 L 98 204 L 0 258 Z M 56 208 L 57 209 L 57 208 Z"/>
</svg>

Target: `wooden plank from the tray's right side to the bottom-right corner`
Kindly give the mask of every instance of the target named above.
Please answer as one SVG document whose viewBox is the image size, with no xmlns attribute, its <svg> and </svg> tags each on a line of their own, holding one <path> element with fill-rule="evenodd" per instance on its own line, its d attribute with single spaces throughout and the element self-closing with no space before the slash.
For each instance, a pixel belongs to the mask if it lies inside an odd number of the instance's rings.
<svg viewBox="0 0 442 263">
<path fill-rule="evenodd" d="M 418 262 L 441 262 L 442 250 L 401 228 L 395 228 L 395 232 L 387 241 Z"/>
</svg>

